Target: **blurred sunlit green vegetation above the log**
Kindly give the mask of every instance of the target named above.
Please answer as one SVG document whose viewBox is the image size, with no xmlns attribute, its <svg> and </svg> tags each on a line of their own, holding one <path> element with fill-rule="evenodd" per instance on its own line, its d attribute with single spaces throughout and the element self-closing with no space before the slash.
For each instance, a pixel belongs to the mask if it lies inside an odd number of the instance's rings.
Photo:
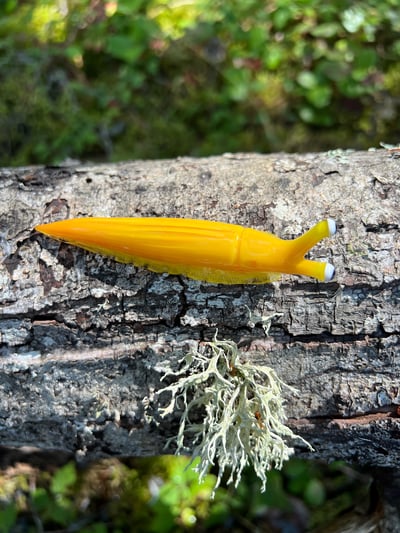
<svg viewBox="0 0 400 533">
<path fill-rule="evenodd" d="M 0 165 L 396 143 L 398 0 L 1 0 Z"/>
</svg>

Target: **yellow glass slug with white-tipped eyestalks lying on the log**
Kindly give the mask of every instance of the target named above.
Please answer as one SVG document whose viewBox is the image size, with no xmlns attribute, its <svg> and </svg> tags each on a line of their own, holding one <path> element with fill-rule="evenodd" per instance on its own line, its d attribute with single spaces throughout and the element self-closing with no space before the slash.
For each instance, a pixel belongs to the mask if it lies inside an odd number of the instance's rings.
<svg viewBox="0 0 400 533">
<path fill-rule="evenodd" d="M 185 218 L 75 218 L 41 224 L 36 230 L 122 263 L 210 283 L 268 283 L 280 273 L 330 281 L 335 273 L 329 263 L 304 258 L 317 242 L 335 234 L 332 219 L 293 240 Z"/>
</svg>

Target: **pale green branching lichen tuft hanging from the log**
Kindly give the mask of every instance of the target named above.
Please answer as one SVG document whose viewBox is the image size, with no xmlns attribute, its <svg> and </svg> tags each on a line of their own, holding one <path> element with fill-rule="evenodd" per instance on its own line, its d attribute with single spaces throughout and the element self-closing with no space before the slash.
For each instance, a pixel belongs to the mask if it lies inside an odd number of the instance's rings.
<svg viewBox="0 0 400 533">
<path fill-rule="evenodd" d="M 225 470 L 230 469 L 227 484 L 235 488 L 245 466 L 252 465 L 265 490 L 267 472 L 280 469 L 293 453 L 287 440 L 299 439 L 311 446 L 285 425 L 282 388 L 285 385 L 276 372 L 267 366 L 257 366 L 244 359 L 232 341 L 204 344 L 204 350 L 187 353 L 178 381 L 161 390 L 171 394 L 168 405 L 160 409 L 162 417 L 183 408 L 178 435 L 177 451 L 187 451 L 185 438 L 193 448 L 192 457 L 200 458 L 196 467 L 199 481 L 209 468 L 218 465 L 219 486 Z M 166 374 L 163 378 L 171 374 Z M 204 415 L 203 420 L 192 422 L 191 416 Z M 170 439 L 172 440 L 172 439 Z"/>
</svg>

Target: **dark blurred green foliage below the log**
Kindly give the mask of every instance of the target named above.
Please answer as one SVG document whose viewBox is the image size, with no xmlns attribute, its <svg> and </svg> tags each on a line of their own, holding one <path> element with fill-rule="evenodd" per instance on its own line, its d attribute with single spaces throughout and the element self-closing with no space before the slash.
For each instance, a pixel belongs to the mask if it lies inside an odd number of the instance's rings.
<svg viewBox="0 0 400 533">
<path fill-rule="evenodd" d="M 264 493 L 247 469 L 236 491 L 219 488 L 214 500 L 216 476 L 199 484 L 188 465 L 173 456 L 103 460 L 82 470 L 69 463 L 52 474 L 19 465 L 0 473 L 0 533 L 269 531 L 277 523 L 290 530 L 305 518 L 304 530 L 324 531 L 370 505 L 371 479 L 342 463 L 292 459 L 268 472 Z"/>
</svg>

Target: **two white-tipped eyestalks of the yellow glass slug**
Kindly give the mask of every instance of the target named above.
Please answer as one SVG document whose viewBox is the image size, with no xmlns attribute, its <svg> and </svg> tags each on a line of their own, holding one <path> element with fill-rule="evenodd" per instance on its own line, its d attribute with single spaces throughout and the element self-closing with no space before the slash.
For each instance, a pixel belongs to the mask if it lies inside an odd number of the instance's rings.
<svg viewBox="0 0 400 533">
<path fill-rule="evenodd" d="M 331 281 L 335 275 L 335 267 L 330 263 L 320 263 L 304 259 L 304 255 L 325 237 L 332 237 L 336 233 L 336 222 L 328 218 L 315 224 L 304 235 L 294 239 L 294 254 L 299 257 L 296 273 L 303 276 L 317 278 L 320 281 Z"/>
</svg>

